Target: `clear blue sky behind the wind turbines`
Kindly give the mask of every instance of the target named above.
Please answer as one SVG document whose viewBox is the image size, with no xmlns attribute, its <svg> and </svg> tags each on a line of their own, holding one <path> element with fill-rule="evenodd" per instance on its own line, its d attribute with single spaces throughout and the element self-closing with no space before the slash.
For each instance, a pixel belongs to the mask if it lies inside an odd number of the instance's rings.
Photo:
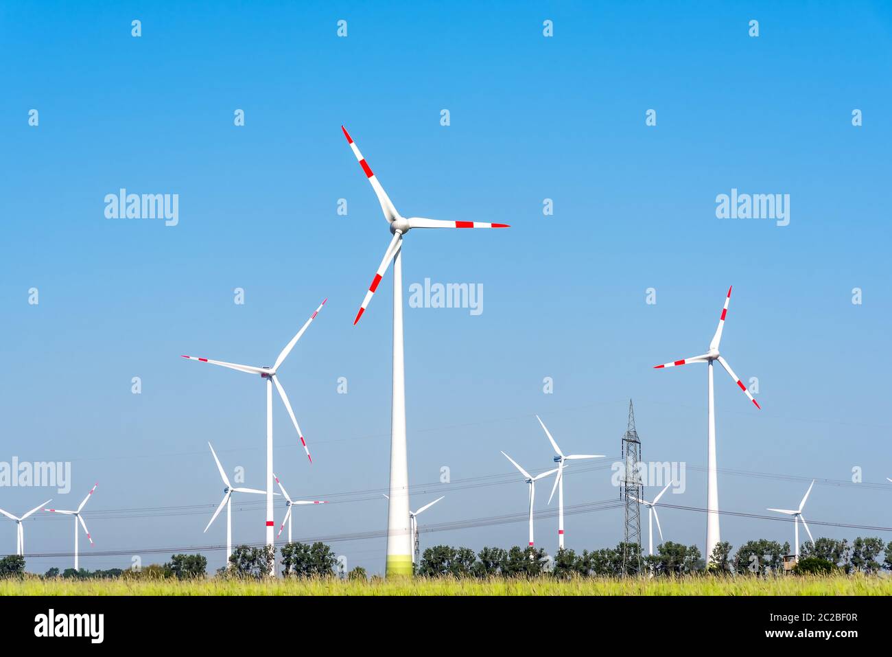
<svg viewBox="0 0 892 657">
<path fill-rule="evenodd" d="M 134 19 L 142 37 L 131 37 Z M 547 19 L 554 37 L 542 35 Z M 758 37 L 747 35 L 753 19 Z M 889 490 L 840 482 L 856 466 L 865 482 L 892 476 L 890 37 L 881 3 L 4 4 L 0 461 L 70 461 L 73 486 L 0 487 L 0 507 L 51 495 L 71 507 L 98 481 L 85 510 L 94 551 L 148 562 L 168 556 L 149 548 L 222 544 L 224 523 L 202 534 L 221 495 L 206 443 L 262 487 L 263 388 L 178 356 L 269 364 L 327 296 L 280 371 L 315 463 L 277 402 L 277 474 L 295 496 L 337 501 L 300 510 L 295 537 L 384 528 L 389 275 L 351 323 L 390 236 L 343 123 L 404 215 L 512 225 L 406 240 L 407 287 L 484 289 L 479 316 L 405 311 L 412 505 L 447 495 L 423 529 L 524 511 L 519 478 L 455 484 L 508 475 L 500 450 L 549 467 L 534 413 L 565 451 L 612 461 L 630 397 L 644 458 L 688 464 L 671 503 L 705 506 L 706 369 L 651 366 L 706 351 L 729 285 L 723 354 L 744 381 L 759 379 L 763 411 L 716 371 L 719 467 L 781 477 L 723 472 L 723 509 L 796 504 L 818 478 L 813 531 L 816 520 L 888 527 Z M 178 225 L 106 219 L 103 197 L 120 187 L 178 194 Z M 715 197 L 732 187 L 789 194 L 789 226 L 717 219 Z M 648 287 L 657 304 L 645 303 Z M 438 483 L 443 466 L 450 485 Z M 566 478 L 567 504 L 617 495 L 608 468 Z M 133 509 L 158 511 L 116 511 Z M 261 540 L 262 507 L 236 509 L 235 541 Z M 667 539 L 703 544 L 703 514 L 660 517 Z M 537 521 L 549 550 L 556 524 Z M 722 528 L 734 545 L 792 538 L 770 520 L 727 517 Z M 525 532 L 422 541 L 522 545 Z M 615 545 L 622 510 L 568 516 L 566 532 L 580 551 Z M 14 533 L 0 522 L 0 553 Z M 69 552 L 70 526 L 38 517 L 26 542 Z M 87 568 L 129 563 L 81 545 Z M 384 538 L 333 545 L 351 566 L 383 569 Z"/>
</svg>

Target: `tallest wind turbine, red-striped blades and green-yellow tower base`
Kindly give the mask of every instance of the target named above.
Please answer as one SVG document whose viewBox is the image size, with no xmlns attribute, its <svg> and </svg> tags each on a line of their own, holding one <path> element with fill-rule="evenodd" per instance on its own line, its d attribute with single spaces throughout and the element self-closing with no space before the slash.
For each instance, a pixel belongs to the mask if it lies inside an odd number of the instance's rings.
<svg viewBox="0 0 892 657">
<path fill-rule="evenodd" d="M 393 261 L 393 370 L 392 370 L 392 407 L 391 407 L 391 470 L 390 497 L 387 508 L 387 575 L 412 574 L 412 536 L 409 527 L 409 464 L 406 454 L 406 382 L 403 368 L 402 348 L 402 237 L 411 229 L 503 229 L 504 223 L 485 223 L 483 221 L 445 221 L 424 219 L 422 217 L 403 217 L 393 207 L 384 187 L 378 182 L 375 174 L 368 166 L 365 158 L 347 129 L 341 126 L 343 136 L 365 172 L 368 182 L 375 190 L 378 203 L 384 212 L 384 219 L 389 224 L 393 235 L 390 245 L 384 251 L 384 258 L 368 287 L 366 297 L 359 306 L 353 325 L 366 312 L 372 295 L 381 282 L 388 265 Z"/>
</svg>

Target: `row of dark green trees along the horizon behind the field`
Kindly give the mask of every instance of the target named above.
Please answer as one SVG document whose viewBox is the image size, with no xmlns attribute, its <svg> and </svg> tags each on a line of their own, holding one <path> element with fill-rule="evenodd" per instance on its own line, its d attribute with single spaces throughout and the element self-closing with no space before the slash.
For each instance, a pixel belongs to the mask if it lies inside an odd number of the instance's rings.
<svg viewBox="0 0 892 657">
<path fill-rule="evenodd" d="M 357 567 L 340 572 L 335 552 L 329 545 L 287 543 L 279 549 L 283 575 L 288 577 L 332 577 L 366 579 L 366 570 Z M 643 554 L 641 546 L 619 543 L 615 548 L 599 550 L 559 550 L 554 557 L 542 548 L 514 546 L 483 547 L 476 552 L 469 547 L 434 545 L 425 549 L 415 572 L 425 577 L 491 578 L 537 577 L 550 574 L 557 578 L 573 576 L 622 577 L 639 571 L 655 576 L 683 576 L 698 572 L 719 574 L 767 575 L 783 570 L 783 557 L 789 554 L 789 543 L 780 544 L 765 538 L 747 541 L 737 552 L 728 543 L 715 546 L 708 564 L 697 545 L 666 541 L 657 545 L 657 553 Z M 237 545 L 227 564 L 217 570 L 221 578 L 265 578 L 275 567 L 276 550 L 272 546 Z M 44 578 L 206 578 L 208 560 L 202 554 L 173 554 L 170 561 L 153 563 L 138 570 L 47 570 Z M 892 542 L 886 545 L 879 537 L 847 539 L 818 538 L 802 546 L 797 573 L 865 573 L 877 574 L 892 570 Z M 23 577 L 25 558 L 11 554 L 0 559 L 0 578 Z"/>
</svg>

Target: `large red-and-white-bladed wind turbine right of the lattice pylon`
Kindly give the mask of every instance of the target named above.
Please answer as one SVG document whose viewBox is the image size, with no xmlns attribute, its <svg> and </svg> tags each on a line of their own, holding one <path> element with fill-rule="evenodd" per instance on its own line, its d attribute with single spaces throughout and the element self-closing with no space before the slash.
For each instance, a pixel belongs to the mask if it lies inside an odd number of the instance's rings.
<svg viewBox="0 0 892 657">
<path fill-rule="evenodd" d="M 733 286 L 731 286 L 733 287 Z M 707 395 L 707 413 L 706 413 L 706 431 L 708 435 L 708 443 L 706 447 L 706 456 L 708 461 L 708 474 L 706 477 L 706 562 L 708 563 L 715 545 L 718 545 L 720 538 L 719 533 L 719 483 L 718 483 L 718 467 L 715 458 L 715 401 L 713 393 L 713 362 L 718 361 L 725 371 L 731 376 L 738 387 L 743 391 L 744 395 L 749 397 L 749 401 L 756 404 L 756 408 L 761 409 L 759 403 L 753 395 L 749 394 L 749 390 L 744 386 L 738 376 L 731 370 L 731 365 L 725 361 L 719 353 L 719 343 L 722 341 L 722 330 L 724 328 L 725 316 L 728 314 L 728 304 L 731 301 L 731 287 L 728 288 L 728 295 L 725 297 L 722 316 L 719 318 L 719 326 L 715 329 L 715 335 L 712 342 L 709 343 L 709 351 L 692 358 L 682 358 L 681 361 L 665 362 L 662 365 L 654 365 L 655 370 L 661 370 L 666 367 L 675 367 L 676 365 L 686 365 L 690 362 L 705 362 L 708 372 L 709 391 Z"/>
</svg>

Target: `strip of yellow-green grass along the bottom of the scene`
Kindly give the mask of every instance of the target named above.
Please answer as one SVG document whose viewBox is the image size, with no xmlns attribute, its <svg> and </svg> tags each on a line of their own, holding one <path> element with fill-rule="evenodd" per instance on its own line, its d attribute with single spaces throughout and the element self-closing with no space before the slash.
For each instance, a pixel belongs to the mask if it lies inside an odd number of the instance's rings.
<svg viewBox="0 0 892 657">
<path fill-rule="evenodd" d="M 0 595 L 892 595 L 892 578 L 860 575 L 656 579 L 335 578 L 194 581 L 39 579 L 0 581 Z"/>
</svg>

